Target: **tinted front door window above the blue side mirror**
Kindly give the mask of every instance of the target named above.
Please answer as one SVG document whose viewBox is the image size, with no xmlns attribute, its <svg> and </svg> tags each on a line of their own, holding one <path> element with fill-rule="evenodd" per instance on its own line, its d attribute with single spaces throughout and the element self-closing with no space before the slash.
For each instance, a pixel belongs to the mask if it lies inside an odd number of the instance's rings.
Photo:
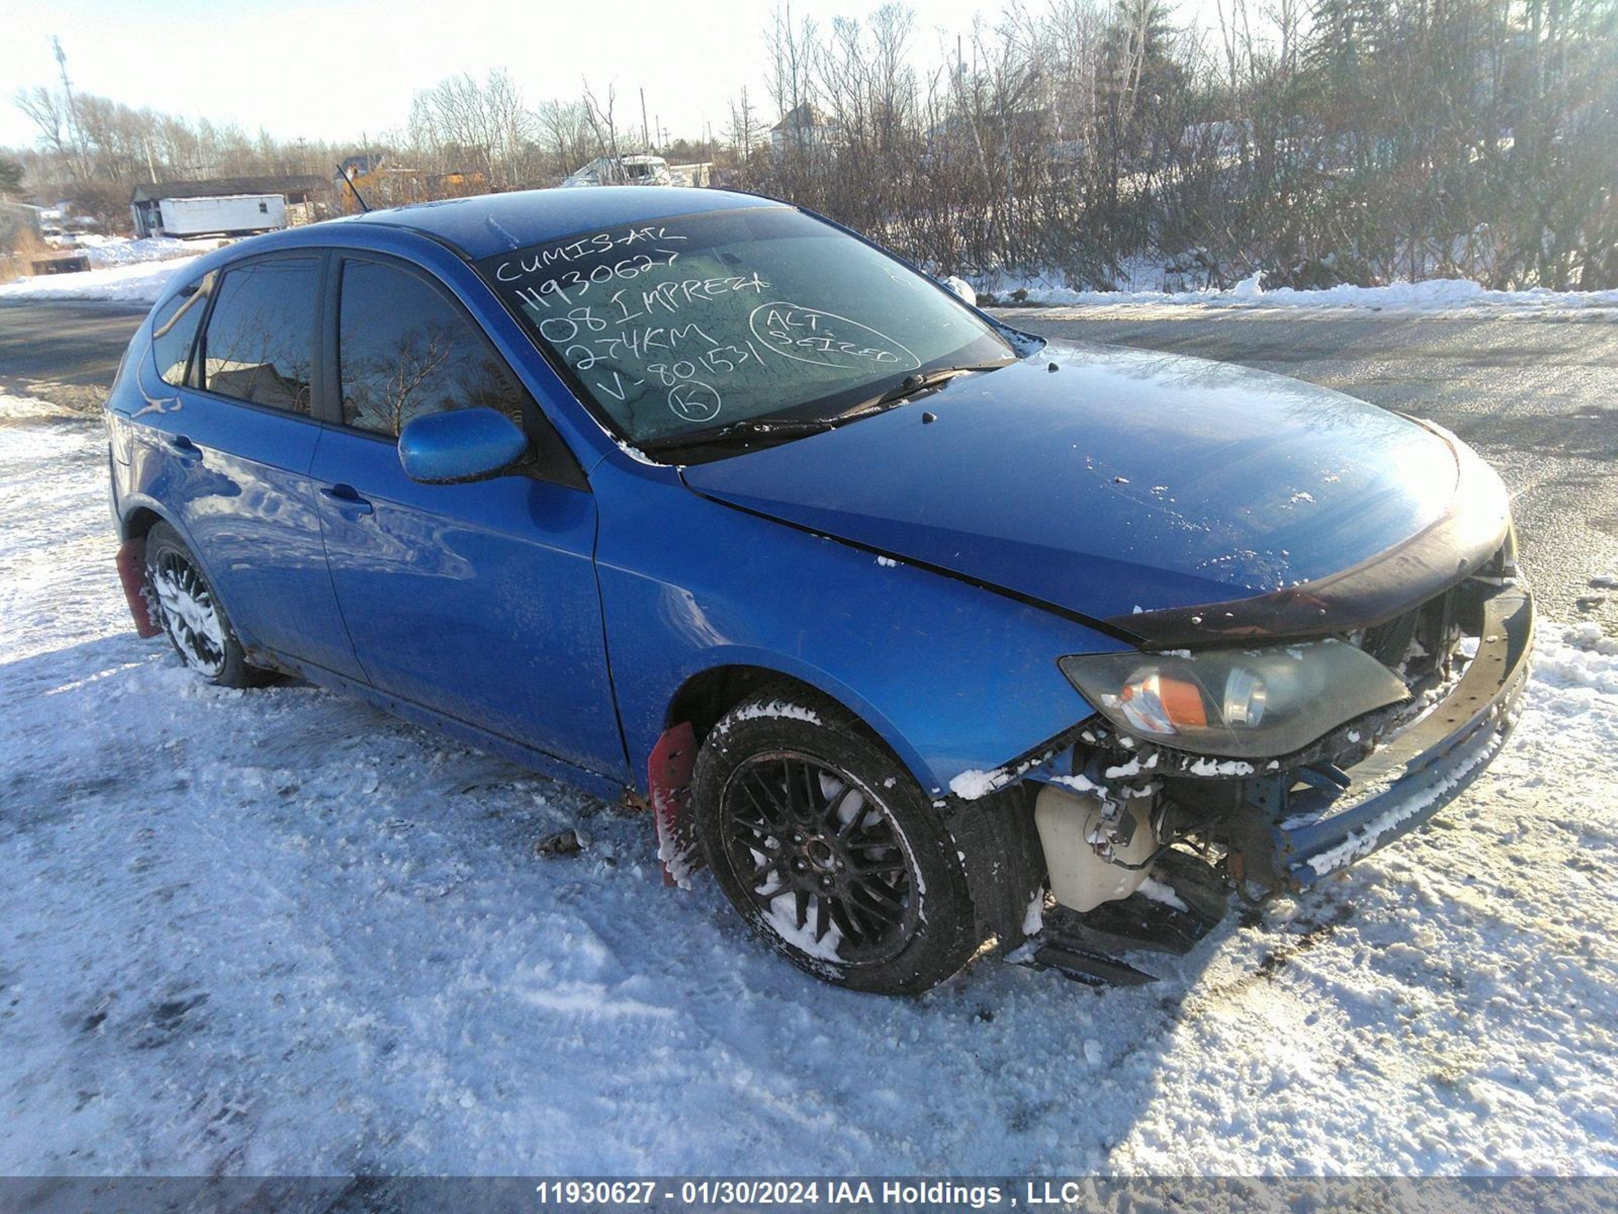
<svg viewBox="0 0 1618 1214">
<path fill-rule="evenodd" d="M 460 308 L 395 265 L 345 261 L 338 304 L 343 422 L 398 435 L 429 413 L 484 406 L 523 426 L 523 390 Z"/>
</svg>

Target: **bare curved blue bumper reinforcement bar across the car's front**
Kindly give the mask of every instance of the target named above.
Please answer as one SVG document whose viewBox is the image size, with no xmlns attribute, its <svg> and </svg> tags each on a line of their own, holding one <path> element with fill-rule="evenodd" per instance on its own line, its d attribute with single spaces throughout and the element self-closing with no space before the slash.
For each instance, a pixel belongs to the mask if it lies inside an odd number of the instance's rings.
<svg viewBox="0 0 1618 1214">
<path fill-rule="evenodd" d="M 1239 853 L 1241 877 L 1272 889 L 1311 885 L 1422 826 L 1489 766 L 1527 685 L 1534 601 L 1521 584 L 1474 588 L 1477 651 L 1424 715 L 1348 770 L 1317 766 L 1304 783 L 1293 774 L 1247 782 L 1249 803 L 1269 809 L 1269 830 Z"/>
</svg>

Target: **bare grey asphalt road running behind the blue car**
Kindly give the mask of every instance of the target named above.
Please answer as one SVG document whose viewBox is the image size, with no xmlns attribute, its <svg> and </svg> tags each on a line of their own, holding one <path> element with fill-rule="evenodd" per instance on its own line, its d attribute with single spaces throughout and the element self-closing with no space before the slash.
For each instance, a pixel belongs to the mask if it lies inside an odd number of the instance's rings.
<svg viewBox="0 0 1618 1214">
<path fill-rule="evenodd" d="M 0 392 L 94 406 L 141 309 L 0 304 Z M 1411 316 L 1299 308 L 1014 309 L 1050 337 L 1278 371 L 1430 418 L 1514 495 L 1523 565 L 1555 620 L 1618 635 L 1618 316 Z"/>
</svg>

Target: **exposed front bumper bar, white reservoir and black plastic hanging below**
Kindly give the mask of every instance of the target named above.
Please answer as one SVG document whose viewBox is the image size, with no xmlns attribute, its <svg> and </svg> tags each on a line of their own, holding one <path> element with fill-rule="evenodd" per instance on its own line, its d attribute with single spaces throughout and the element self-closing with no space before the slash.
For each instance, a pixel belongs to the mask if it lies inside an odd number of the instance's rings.
<svg viewBox="0 0 1618 1214">
<path fill-rule="evenodd" d="M 1233 887 L 1244 897 L 1251 885 L 1302 890 L 1459 796 L 1516 724 L 1534 601 L 1506 578 L 1472 578 L 1458 597 L 1471 620 L 1464 635 L 1476 638 L 1471 660 L 1403 715 L 1351 722 L 1262 770 L 1137 741 L 1123 761 L 1118 738 L 1107 745 L 1094 735 L 1027 770 L 1044 785 L 1036 821 L 1078 814 L 1082 838 L 1063 847 L 1039 822 L 1058 905 L 1045 908 L 1042 929 L 1013 960 L 1092 984 L 1150 981 L 1125 957 L 1189 952 L 1220 921 Z M 1128 782 L 1108 780 L 1113 774 Z M 1133 826 L 1120 842 L 1121 822 Z M 1147 874 L 1155 884 L 1142 889 Z"/>
</svg>

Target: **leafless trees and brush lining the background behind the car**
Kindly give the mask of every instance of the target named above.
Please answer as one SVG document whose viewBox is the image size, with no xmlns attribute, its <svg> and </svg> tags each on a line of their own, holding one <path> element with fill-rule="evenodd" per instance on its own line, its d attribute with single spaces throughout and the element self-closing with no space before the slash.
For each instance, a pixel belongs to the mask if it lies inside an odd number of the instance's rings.
<svg viewBox="0 0 1618 1214">
<path fill-rule="evenodd" d="M 735 94 L 730 180 L 937 269 L 1618 287 L 1613 0 L 1215 0 L 1207 28 L 1168 0 L 985 0 L 927 66 L 904 3 L 820 23 L 778 3 L 760 42 L 769 102 Z M 613 89 L 531 108 L 503 70 L 419 91 L 403 131 L 358 147 L 58 87 L 15 104 L 37 139 L 8 157 L 34 194 L 102 202 L 354 151 L 413 170 L 409 197 L 553 185 L 639 151 Z"/>
</svg>

